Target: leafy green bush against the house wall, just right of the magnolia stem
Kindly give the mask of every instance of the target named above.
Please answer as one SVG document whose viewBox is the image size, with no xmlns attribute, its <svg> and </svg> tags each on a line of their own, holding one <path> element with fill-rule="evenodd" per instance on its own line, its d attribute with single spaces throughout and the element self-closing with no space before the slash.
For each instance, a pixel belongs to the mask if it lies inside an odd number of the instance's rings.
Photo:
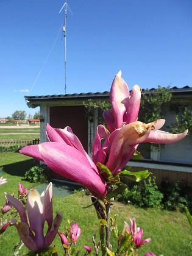
<svg viewBox="0 0 192 256">
<path fill-rule="evenodd" d="M 153 179 L 149 177 L 148 181 L 144 180 L 118 195 L 118 201 L 139 207 L 160 207 L 162 199 L 163 194 L 158 190 L 155 177 Z"/>
</svg>

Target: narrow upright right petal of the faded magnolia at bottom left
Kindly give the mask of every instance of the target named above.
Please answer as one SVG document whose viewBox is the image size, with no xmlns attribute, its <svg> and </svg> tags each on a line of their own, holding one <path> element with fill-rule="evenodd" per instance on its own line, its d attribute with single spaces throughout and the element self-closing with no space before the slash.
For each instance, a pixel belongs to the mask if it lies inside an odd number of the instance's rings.
<svg viewBox="0 0 192 256">
<path fill-rule="evenodd" d="M 41 202 L 43 204 L 43 219 L 48 222 L 48 232 L 52 226 L 52 183 L 50 182 L 46 191 L 41 194 Z"/>
</svg>

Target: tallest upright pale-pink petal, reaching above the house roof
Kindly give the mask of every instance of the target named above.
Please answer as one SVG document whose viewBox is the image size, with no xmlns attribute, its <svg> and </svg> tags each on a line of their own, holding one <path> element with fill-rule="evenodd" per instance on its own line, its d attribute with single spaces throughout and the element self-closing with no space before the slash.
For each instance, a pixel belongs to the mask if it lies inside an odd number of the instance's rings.
<svg viewBox="0 0 192 256">
<path fill-rule="evenodd" d="M 113 116 L 115 118 L 116 129 L 123 124 L 123 116 L 127 110 L 129 101 L 129 88 L 126 82 L 121 78 L 121 71 L 116 74 L 110 90 L 110 102 L 112 104 Z"/>
</svg>

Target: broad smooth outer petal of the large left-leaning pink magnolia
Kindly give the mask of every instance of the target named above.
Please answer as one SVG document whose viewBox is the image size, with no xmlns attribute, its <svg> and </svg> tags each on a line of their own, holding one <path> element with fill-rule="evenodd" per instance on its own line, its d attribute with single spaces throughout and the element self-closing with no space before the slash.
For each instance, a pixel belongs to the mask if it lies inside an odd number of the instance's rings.
<svg viewBox="0 0 192 256">
<path fill-rule="evenodd" d="M 107 194 L 107 183 L 88 163 L 87 158 L 77 149 L 62 143 L 41 143 L 39 144 L 40 154 L 46 165 L 53 171 L 67 179 L 79 182 L 87 187 L 94 196 L 103 199 Z"/>
</svg>

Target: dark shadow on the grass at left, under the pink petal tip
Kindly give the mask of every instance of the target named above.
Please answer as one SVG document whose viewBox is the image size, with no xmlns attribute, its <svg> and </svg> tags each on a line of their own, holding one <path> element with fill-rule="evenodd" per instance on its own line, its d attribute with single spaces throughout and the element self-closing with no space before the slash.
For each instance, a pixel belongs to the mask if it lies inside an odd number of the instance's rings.
<svg viewBox="0 0 192 256">
<path fill-rule="evenodd" d="M 26 171 L 35 165 L 39 165 L 36 159 L 29 159 L 17 163 L 10 163 L 9 165 L 2 165 L 3 171 L 12 176 L 23 176 Z"/>
</svg>

